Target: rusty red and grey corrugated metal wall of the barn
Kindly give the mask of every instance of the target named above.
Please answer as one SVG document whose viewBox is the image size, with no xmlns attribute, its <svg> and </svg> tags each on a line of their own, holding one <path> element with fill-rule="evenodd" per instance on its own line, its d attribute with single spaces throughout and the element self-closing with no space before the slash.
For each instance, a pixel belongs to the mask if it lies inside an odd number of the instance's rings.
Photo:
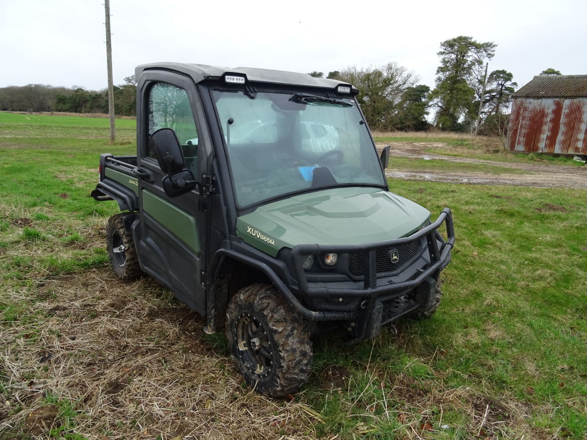
<svg viewBox="0 0 587 440">
<path fill-rule="evenodd" d="M 511 151 L 587 154 L 587 97 L 514 99 L 508 148 Z"/>
</svg>

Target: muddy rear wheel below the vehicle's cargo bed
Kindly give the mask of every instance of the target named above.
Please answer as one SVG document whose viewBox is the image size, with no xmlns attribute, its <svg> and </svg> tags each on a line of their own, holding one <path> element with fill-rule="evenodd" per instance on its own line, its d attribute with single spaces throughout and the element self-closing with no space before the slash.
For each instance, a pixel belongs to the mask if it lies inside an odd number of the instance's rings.
<svg viewBox="0 0 587 440">
<path fill-rule="evenodd" d="M 120 279 L 130 280 L 144 275 L 134 246 L 133 235 L 124 228 L 123 217 L 133 214 L 117 214 L 106 225 L 106 252 L 110 267 Z"/>
</svg>

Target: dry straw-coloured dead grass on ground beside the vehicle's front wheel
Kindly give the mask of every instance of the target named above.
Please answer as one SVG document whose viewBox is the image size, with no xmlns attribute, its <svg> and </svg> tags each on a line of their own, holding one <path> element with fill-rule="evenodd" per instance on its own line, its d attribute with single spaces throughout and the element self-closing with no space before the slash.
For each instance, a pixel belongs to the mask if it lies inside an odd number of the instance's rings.
<svg viewBox="0 0 587 440">
<path fill-rule="evenodd" d="M 7 294 L 15 304 L 28 302 L 26 292 Z M 11 395 L 0 414 L 21 407 L 0 417 L 0 433 L 22 429 L 45 439 L 50 429 L 62 428 L 62 434 L 101 440 L 318 436 L 322 418 L 303 394 L 291 402 L 269 400 L 243 387 L 223 348 L 205 340 L 202 327 L 197 314 L 148 278 L 123 283 L 103 268 L 37 279 L 28 313 L 0 333 L 0 371 Z M 388 378 L 365 367 L 340 383 L 318 384 L 326 374 L 311 379 L 325 393 L 348 393 L 348 407 L 341 409 L 357 421 L 357 438 L 386 419 L 402 422 L 402 438 L 422 438 L 419 427 L 432 408 L 469 414 L 470 432 L 533 434 L 525 422 L 530 409 L 511 397 L 483 397 L 441 380 L 427 390 L 405 374 Z"/>
</svg>

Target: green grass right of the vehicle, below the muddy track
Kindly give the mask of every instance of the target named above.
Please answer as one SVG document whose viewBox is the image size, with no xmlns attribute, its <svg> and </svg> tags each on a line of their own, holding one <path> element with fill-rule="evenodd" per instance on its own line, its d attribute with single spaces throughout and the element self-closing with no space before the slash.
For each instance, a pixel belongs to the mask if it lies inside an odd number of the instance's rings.
<svg viewBox="0 0 587 440">
<path fill-rule="evenodd" d="M 437 216 L 451 207 L 457 245 L 443 272 L 443 302 L 427 321 L 403 321 L 400 336 L 388 332 L 358 346 L 321 341 L 315 366 L 348 368 L 350 392 L 331 396 L 312 391 L 315 408 L 326 408 L 325 432 L 353 432 L 350 414 L 383 417 L 382 381 L 387 390 L 404 385 L 398 375 L 414 378 L 408 390 L 391 396 L 391 408 L 416 417 L 419 399 L 440 388 L 467 387 L 471 393 L 528 408 L 537 431 L 561 427 L 568 438 L 587 432 L 587 194 L 568 189 L 468 186 L 390 180 L 390 188 Z M 423 188 L 423 190 L 422 190 Z M 553 211 L 547 204 L 561 205 Z M 540 211 L 539 211 L 540 210 Z M 438 356 L 441 350 L 446 351 Z M 444 352 L 443 352 L 444 353 Z M 366 364 L 369 363 L 369 368 Z M 369 383 L 375 375 L 375 382 Z M 564 384 L 564 385 L 559 385 Z M 528 387 L 534 394 L 528 394 Z M 414 398 L 416 390 L 422 397 Z M 379 402 L 374 411 L 365 404 Z M 407 395 L 404 400 L 402 397 Z M 333 397 L 333 401 L 327 402 Z M 409 398 L 411 397 L 411 401 Z M 328 410 L 329 405 L 332 405 Z M 389 405 L 389 404 L 388 404 Z M 425 405 L 424 405 L 425 406 Z M 434 408 L 428 408 L 434 409 Z M 434 438 L 471 438 L 469 423 L 457 409 L 445 407 L 447 432 Z M 367 438 L 386 438 L 397 418 L 374 424 Z M 435 427 L 441 412 L 423 420 Z M 504 437 L 505 438 L 505 437 Z"/>
</svg>

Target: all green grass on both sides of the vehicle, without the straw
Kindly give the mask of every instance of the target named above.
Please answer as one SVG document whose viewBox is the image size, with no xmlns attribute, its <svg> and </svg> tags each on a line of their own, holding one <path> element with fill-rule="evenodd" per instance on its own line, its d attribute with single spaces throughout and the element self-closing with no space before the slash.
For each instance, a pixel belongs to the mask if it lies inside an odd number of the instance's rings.
<svg viewBox="0 0 587 440">
<path fill-rule="evenodd" d="M 26 122 L 22 116 L 0 113 L 0 136 L 11 133 L 0 137 L 0 326 L 30 326 L 40 313 L 29 311 L 26 302 L 8 302 L 4 289 L 35 299 L 42 277 L 107 265 L 100 228 L 117 208 L 93 201 L 89 192 L 100 153 L 132 154 L 135 148 L 134 121 L 123 120 L 119 143 L 109 145 L 107 120 L 38 116 Z M 28 137 L 29 130 L 38 137 Z M 435 162 L 392 158 L 391 167 L 420 170 Z M 438 162 L 435 167 L 446 165 Z M 475 165 L 466 171 L 497 169 Z M 433 217 L 444 207 L 453 209 L 457 244 L 441 277 L 443 301 L 430 320 L 402 320 L 398 336 L 383 330 L 374 341 L 355 345 L 336 335 L 315 341 L 313 374 L 296 401 L 321 415 L 318 433 L 417 438 L 413 429 L 429 422 L 434 432 L 419 432 L 421 438 L 470 439 L 488 408 L 483 429 L 489 438 L 584 439 L 587 193 L 389 183 Z M 19 218 L 32 223 L 19 226 Z M 225 356 L 221 337 L 207 339 Z M 331 365 L 348 372 L 338 391 L 322 387 Z M 7 374 L 0 365 L 0 398 L 6 401 Z M 63 432 L 73 432 L 82 413 L 92 414 L 82 402 L 74 407 L 59 396 L 41 396 L 39 405 L 49 400 L 59 408 Z M 513 417 L 512 408 L 527 417 Z"/>
</svg>

